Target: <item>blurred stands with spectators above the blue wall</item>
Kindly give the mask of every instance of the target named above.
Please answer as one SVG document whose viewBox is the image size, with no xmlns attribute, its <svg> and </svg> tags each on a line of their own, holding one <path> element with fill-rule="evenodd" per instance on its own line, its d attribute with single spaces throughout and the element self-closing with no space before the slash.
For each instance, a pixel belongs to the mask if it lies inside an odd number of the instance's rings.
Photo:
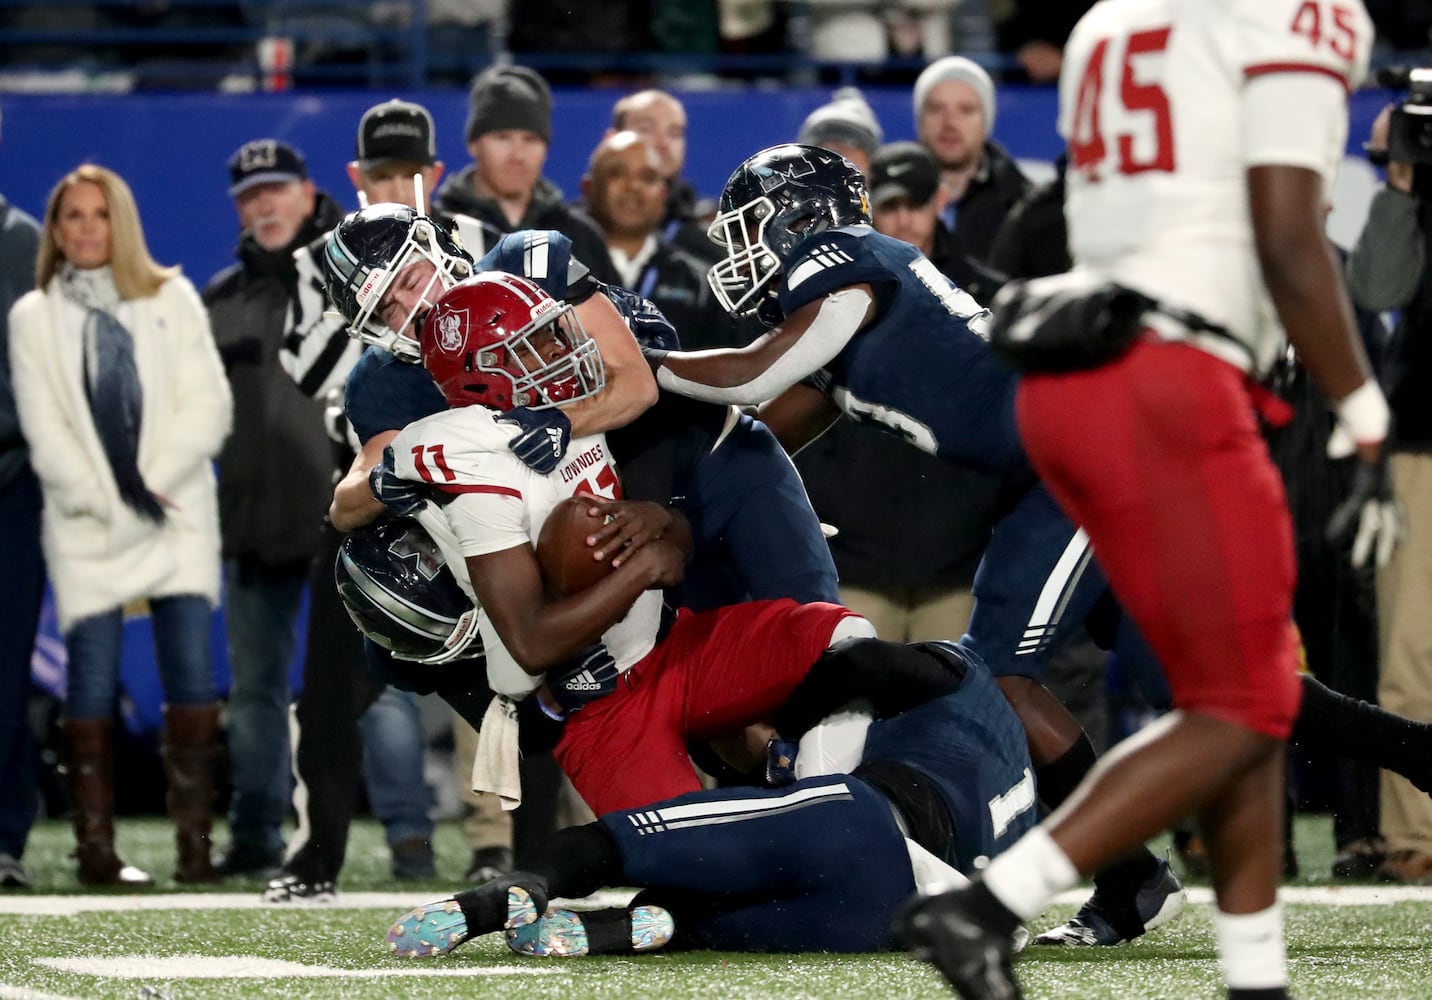
<svg viewBox="0 0 1432 1000">
<path fill-rule="evenodd" d="M 957 52 L 1050 82 L 1088 0 L 109 0 L 0 3 L 0 90 L 464 83 L 911 83 Z M 1426 62 L 1429 0 L 1368 0 L 1376 63 Z M 1422 53 L 1422 54 L 1419 54 Z"/>
</svg>

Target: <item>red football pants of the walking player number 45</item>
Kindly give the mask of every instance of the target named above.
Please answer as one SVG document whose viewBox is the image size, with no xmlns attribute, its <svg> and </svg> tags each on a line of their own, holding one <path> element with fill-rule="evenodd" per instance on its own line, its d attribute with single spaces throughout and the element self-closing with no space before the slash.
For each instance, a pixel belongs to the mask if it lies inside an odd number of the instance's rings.
<svg viewBox="0 0 1432 1000">
<path fill-rule="evenodd" d="M 1293 530 L 1243 372 L 1146 337 L 1114 364 L 1027 377 L 1017 414 L 1174 706 L 1286 738 L 1300 695 Z"/>
</svg>

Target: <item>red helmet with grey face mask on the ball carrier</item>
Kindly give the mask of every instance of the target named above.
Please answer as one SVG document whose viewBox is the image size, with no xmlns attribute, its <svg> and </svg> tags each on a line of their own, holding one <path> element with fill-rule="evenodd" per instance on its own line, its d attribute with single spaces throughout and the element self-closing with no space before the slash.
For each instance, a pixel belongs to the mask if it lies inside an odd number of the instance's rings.
<svg viewBox="0 0 1432 1000">
<path fill-rule="evenodd" d="M 454 407 L 544 410 L 606 385 L 601 355 L 573 308 L 501 271 L 447 289 L 422 322 L 421 344 L 424 367 Z"/>
</svg>

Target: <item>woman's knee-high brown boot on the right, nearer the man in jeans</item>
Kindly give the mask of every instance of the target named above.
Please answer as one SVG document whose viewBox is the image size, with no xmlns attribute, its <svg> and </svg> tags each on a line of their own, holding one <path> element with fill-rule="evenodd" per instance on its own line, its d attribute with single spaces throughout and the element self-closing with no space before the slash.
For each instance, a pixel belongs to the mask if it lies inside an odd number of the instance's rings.
<svg viewBox="0 0 1432 1000">
<path fill-rule="evenodd" d="M 165 739 L 159 752 L 169 779 L 165 804 L 175 821 L 175 842 L 179 847 L 175 880 L 180 883 L 213 883 L 219 878 L 209 861 L 218 725 L 218 705 L 165 706 Z"/>
</svg>

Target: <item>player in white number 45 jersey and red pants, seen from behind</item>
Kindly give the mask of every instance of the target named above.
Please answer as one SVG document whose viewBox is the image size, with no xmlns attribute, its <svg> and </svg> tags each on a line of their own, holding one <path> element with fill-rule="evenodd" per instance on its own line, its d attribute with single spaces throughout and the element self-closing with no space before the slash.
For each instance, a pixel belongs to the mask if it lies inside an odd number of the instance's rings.
<svg viewBox="0 0 1432 1000">
<path fill-rule="evenodd" d="M 1287 996 L 1276 890 L 1299 709 L 1293 549 L 1247 384 L 1286 330 L 1366 463 L 1350 503 L 1372 497 L 1388 407 L 1322 211 L 1370 43 L 1358 0 L 1108 0 L 1070 39 L 1071 249 L 1154 308 L 1121 355 L 1027 377 L 1020 431 L 1157 653 L 1174 711 L 975 885 L 905 915 L 908 944 L 961 996 L 1020 996 L 1007 928 L 1189 814 L 1213 862 L 1230 1000 Z"/>
</svg>

